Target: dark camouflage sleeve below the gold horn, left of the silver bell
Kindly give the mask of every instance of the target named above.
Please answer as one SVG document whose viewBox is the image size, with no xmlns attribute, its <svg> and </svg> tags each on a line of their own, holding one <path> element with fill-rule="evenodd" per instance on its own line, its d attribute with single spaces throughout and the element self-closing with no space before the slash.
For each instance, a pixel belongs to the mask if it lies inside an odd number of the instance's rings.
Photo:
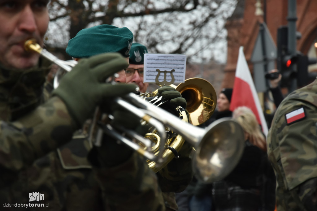
<svg viewBox="0 0 317 211">
<path fill-rule="evenodd" d="M 191 182 L 193 172 L 190 154 L 192 149 L 191 144 L 185 141 L 178 152 L 179 158 L 174 158 L 157 173 L 163 192 L 182 192 Z"/>
</svg>

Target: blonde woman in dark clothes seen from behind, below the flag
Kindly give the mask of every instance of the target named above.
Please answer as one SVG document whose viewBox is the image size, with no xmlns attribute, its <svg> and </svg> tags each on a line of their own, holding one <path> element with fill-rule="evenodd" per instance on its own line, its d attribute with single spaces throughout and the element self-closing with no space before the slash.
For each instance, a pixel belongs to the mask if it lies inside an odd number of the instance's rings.
<svg viewBox="0 0 317 211">
<path fill-rule="evenodd" d="M 275 177 L 265 137 L 249 108 L 238 107 L 232 115 L 244 130 L 245 147 L 236 168 L 222 181 L 213 183 L 215 210 L 273 211 L 275 183 L 266 181 L 275 181 Z"/>
</svg>

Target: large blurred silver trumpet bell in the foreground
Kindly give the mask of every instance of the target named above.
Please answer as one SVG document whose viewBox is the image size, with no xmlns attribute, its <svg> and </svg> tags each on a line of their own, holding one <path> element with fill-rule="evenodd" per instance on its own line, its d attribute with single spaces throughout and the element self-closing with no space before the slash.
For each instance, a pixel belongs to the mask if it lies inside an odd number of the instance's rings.
<svg viewBox="0 0 317 211">
<path fill-rule="evenodd" d="M 192 164 L 197 179 L 210 183 L 223 179 L 236 167 L 244 149 L 244 132 L 230 118 L 218 119 L 206 131 Z"/>
</svg>

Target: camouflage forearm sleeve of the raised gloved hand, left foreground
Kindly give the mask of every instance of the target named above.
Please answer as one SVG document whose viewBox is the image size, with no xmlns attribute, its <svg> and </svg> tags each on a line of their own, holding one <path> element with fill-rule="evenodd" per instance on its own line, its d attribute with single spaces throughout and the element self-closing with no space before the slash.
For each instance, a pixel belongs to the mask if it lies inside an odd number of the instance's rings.
<svg viewBox="0 0 317 211">
<path fill-rule="evenodd" d="M 69 141 L 75 129 L 65 104 L 57 97 L 15 122 L 0 121 L 1 177 Z"/>
</svg>

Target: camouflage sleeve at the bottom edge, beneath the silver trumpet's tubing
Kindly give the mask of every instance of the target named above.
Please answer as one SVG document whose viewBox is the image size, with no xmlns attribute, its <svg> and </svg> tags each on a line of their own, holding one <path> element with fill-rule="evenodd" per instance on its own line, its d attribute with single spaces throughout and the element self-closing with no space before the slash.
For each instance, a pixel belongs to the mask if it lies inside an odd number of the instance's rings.
<svg viewBox="0 0 317 211">
<path fill-rule="evenodd" d="M 95 149 L 95 148 L 94 148 Z M 164 211 L 165 204 L 155 173 L 136 152 L 128 160 L 107 168 L 96 160 L 94 149 L 89 160 L 102 189 L 105 210 Z M 120 155 L 119 155 L 120 156 Z M 99 166 L 99 167 L 97 167 Z"/>
</svg>

